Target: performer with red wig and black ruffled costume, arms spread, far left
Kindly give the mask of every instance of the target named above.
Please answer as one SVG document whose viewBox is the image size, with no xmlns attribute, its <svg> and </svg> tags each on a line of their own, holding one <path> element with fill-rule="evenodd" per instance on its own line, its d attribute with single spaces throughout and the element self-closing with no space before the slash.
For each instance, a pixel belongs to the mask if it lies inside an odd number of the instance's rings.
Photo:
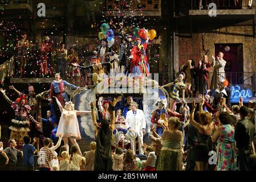
<svg viewBox="0 0 256 182">
<path fill-rule="evenodd" d="M 36 127 L 41 127 L 41 124 L 35 121 L 34 117 L 30 114 L 31 108 L 27 104 L 27 96 L 25 94 L 19 94 L 15 102 L 12 102 L 9 97 L 6 96 L 5 90 L 0 89 L 0 92 L 3 93 L 3 97 L 5 97 L 5 100 L 15 111 L 15 119 L 11 119 L 11 126 L 9 127 L 11 130 L 10 138 L 17 140 L 18 148 L 22 148 L 24 144 L 23 137 L 30 131 L 29 121 L 35 123 Z"/>
</svg>

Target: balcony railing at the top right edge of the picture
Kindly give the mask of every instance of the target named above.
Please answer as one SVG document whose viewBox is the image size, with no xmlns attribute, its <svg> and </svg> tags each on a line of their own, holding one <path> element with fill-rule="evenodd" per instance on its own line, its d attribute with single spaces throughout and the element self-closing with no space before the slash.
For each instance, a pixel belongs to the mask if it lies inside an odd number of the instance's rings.
<svg viewBox="0 0 256 182">
<path fill-rule="evenodd" d="M 215 3 L 217 10 L 234 10 L 251 8 L 246 0 L 191 0 L 191 10 L 208 10 L 210 3 Z"/>
</svg>

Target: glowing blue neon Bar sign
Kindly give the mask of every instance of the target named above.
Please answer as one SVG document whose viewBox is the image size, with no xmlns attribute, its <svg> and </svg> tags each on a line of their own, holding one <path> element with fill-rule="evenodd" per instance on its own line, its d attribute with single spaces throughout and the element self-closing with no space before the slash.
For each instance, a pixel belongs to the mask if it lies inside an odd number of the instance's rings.
<svg viewBox="0 0 256 182">
<path fill-rule="evenodd" d="M 251 92 L 251 85 L 231 86 L 231 102 L 237 102 L 240 97 L 242 97 L 243 100 L 249 100 L 251 97 L 253 97 L 253 92 Z"/>
</svg>

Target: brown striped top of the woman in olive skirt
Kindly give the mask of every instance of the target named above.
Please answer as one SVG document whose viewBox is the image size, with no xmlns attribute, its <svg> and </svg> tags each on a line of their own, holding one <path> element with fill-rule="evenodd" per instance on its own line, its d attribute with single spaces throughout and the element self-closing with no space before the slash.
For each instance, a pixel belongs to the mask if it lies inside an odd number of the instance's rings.
<svg viewBox="0 0 256 182">
<path fill-rule="evenodd" d="M 173 133 L 171 131 L 164 131 L 164 133 L 162 134 L 162 140 L 164 140 L 164 147 L 181 148 L 182 139 L 182 131 L 177 131 L 176 133 Z"/>
</svg>

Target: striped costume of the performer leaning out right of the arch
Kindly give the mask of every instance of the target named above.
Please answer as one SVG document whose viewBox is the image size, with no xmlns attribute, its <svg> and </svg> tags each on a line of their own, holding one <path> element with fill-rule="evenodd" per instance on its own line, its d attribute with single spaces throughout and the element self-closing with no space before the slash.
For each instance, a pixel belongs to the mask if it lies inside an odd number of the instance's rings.
<svg viewBox="0 0 256 182">
<path fill-rule="evenodd" d="M 174 81 L 173 90 L 170 93 L 170 110 L 175 111 L 176 110 L 176 104 L 180 102 L 180 96 L 179 93 L 182 91 L 182 89 L 186 89 L 186 85 L 183 82 L 178 82 L 177 80 Z"/>
</svg>

